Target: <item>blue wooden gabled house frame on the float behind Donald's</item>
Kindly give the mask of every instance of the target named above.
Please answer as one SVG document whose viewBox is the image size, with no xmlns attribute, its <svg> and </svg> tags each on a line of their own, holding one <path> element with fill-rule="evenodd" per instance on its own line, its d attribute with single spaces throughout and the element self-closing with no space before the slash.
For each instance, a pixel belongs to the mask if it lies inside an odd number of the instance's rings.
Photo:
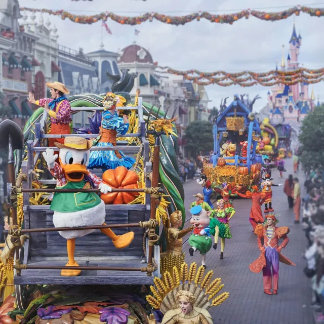
<svg viewBox="0 0 324 324">
<path fill-rule="evenodd" d="M 236 128 L 231 125 L 237 122 Z M 231 125 L 229 125 L 231 124 Z M 239 126 L 239 129 L 237 129 Z M 247 167 L 249 173 L 251 165 L 256 163 L 262 164 L 262 156 L 256 153 L 258 140 L 260 138 L 261 129 L 255 114 L 251 112 L 244 103 L 241 102 L 237 94 L 234 95 L 232 103 L 221 112 L 217 120 L 214 120 L 213 137 L 214 137 L 214 155 L 212 157 L 214 167 L 217 166 L 217 160 L 221 157 L 221 143 L 223 137 L 228 138 L 232 143 L 239 147 L 239 142 L 248 141 L 247 156 L 239 156 L 235 154 L 233 157 L 225 157 L 225 160 L 233 160 L 234 162 L 227 162 L 228 166 Z M 250 150 L 253 145 L 252 152 Z"/>
</svg>

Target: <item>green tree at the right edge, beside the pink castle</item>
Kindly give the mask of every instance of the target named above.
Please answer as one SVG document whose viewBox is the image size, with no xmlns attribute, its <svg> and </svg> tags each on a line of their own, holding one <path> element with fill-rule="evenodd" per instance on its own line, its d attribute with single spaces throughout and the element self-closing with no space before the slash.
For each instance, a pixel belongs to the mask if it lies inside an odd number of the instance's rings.
<svg viewBox="0 0 324 324">
<path fill-rule="evenodd" d="M 300 161 L 305 170 L 324 170 L 324 106 L 315 107 L 300 129 Z"/>
</svg>

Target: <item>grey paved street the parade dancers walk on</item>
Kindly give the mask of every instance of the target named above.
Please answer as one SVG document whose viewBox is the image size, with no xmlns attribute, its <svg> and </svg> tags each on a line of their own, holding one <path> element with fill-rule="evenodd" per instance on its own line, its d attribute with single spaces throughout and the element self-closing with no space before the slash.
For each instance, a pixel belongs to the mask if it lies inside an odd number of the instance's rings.
<svg viewBox="0 0 324 324">
<path fill-rule="evenodd" d="M 215 277 L 221 277 L 225 284 L 223 291 L 229 292 L 229 299 L 222 305 L 211 308 L 214 323 L 220 324 L 270 324 L 270 323 L 312 323 L 310 280 L 306 278 L 303 269 L 306 265 L 302 254 L 305 251 L 306 239 L 302 231 L 302 225 L 294 224 L 293 210 L 288 209 L 288 200 L 283 192 L 284 181 L 293 172 L 292 159 L 287 158 L 285 167 L 287 172 L 283 178 L 279 178 L 279 172 L 272 169 L 272 181 L 274 184 L 282 184 L 273 188 L 274 213 L 278 215 L 278 226 L 288 226 L 289 243 L 282 254 L 296 263 L 296 267 L 280 263 L 278 295 L 265 295 L 263 293 L 262 272 L 253 273 L 249 269 L 250 263 L 257 259 L 260 251 L 257 245 L 257 237 L 252 232 L 249 222 L 251 200 L 236 198 L 233 201 L 236 210 L 230 221 L 232 233 L 231 239 L 226 239 L 224 259 L 220 260 L 220 241 L 215 251 L 213 248 L 207 254 L 206 263 L 208 270 L 214 270 Z M 297 174 L 302 188 L 304 174 Z M 201 192 L 195 180 L 184 184 L 185 207 L 188 210 L 194 200 L 193 194 Z M 216 206 L 216 204 L 215 204 Z M 215 207 L 214 206 L 214 207 Z M 264 205 L 262 206 L 262 210 Z M 187 219 L 190 213 L 187 211 Z M 186 227 L 189 226 L 186 222 Z M 188 236 L 185 237 L 186 239 Z M 188 242 L 183 247 L 186 253 L 186 262 L 195 261 L 200 265 L 200 255 L 196 253 L 190 257 Z"/>
</svg>

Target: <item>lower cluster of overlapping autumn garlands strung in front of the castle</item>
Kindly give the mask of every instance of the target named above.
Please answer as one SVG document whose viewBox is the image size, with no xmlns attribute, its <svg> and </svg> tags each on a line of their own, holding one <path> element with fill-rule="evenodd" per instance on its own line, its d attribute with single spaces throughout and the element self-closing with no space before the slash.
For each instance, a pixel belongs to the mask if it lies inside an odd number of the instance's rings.
<svg viewBox="0 0 324 324">
<path fill-rule="evenodd" d="M 204 86 L 212 84 L 216 84 L 221 87 L 229 87 L 232 85 L 239 85 L 241 87 L 251 87 L 257 84 L 265 87 L 272 87 L 277 84 L 292 86 L 297 83 L 304 82 L 307 84 L 315 84 L 321 82 L 324 79 L 324 68 L 299 68 L 293 71 L 270 70 L 261 73 L 253 71 L 240 71 L 235 73 L 229 73 L 222 70 L 214 72 L 202 72 L 195 69 L 182 71 L 173 69 L 168 66 L 157 67 L 160 69 L 160 71 L 158 71 L 159 73 L 182 75 L 185 79 L 191 80 L 198 85 Z M 201 79 L 207 80 L 202 81 Z M 226 80 L 229 80 L 229 82 L 224 82 Z"/>
</svg>

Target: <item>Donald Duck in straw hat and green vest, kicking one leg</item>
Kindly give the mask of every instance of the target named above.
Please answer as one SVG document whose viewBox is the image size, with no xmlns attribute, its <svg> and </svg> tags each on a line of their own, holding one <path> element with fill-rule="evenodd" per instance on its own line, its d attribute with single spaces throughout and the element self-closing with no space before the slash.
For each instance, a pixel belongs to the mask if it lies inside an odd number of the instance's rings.
<svg viewBox="0 0 324 324">
<path fill-rule="evenodd" d="M 111 191 L 100 178 L 87 170 L 92 141 L 80 137 L 66 137 L 64 144 L 54 143 L 60 149 L 59 164 L 55 162 L 58 155 L 53 149 L 43 152 L 44 159 L 53 177 L 57 179 L 57 189 L 91 189 L 98 188 L 101 193 Z M 95 229 L 73 230 L 73 227 L 105 225 L 105 204 L 94 192 L 55 192 L 50 207 L 54 211 L 55 227 L 71 227 L 70 231 L 59 231 L 67 239 L 68 263 L 66 266 L 77 267 L 74 260 L 75 238 L 82 237 Z M 100 229 L 112 239 L 117 249 L 129 246 L 134 238 L 134 232 L 115 235 L 110 228 Z M 77 276 L 80 270 L 61 271 L 62 276 Z"/>
</svg>

